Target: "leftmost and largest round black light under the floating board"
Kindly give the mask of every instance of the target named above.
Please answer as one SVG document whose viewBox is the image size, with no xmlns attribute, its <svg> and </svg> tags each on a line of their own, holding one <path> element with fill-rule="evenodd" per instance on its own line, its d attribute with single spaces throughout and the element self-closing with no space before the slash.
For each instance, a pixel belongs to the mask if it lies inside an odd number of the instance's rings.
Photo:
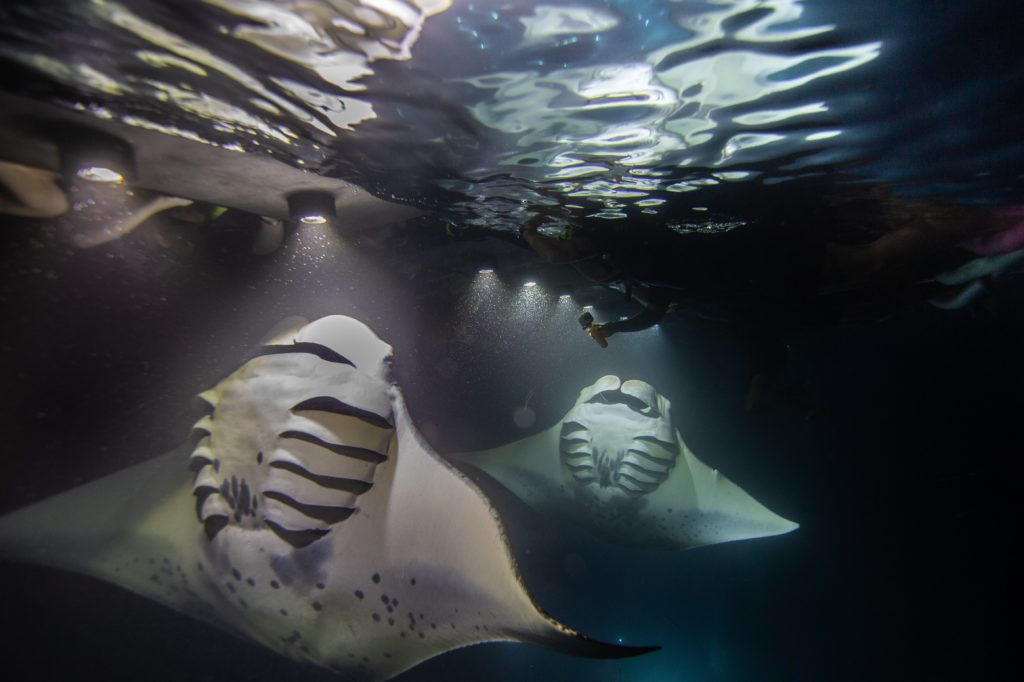
<svg viewBox="0 0 1024 682">
<path fill-rule="evenodd" d="M 75 127 L 63 131 L 60 167 L 70 182 L 76 179 L 99 184 L 120 184 L 134 177 L 135 163 L 131 145 L 124 140 L 91 128 Z"/>
</svg>

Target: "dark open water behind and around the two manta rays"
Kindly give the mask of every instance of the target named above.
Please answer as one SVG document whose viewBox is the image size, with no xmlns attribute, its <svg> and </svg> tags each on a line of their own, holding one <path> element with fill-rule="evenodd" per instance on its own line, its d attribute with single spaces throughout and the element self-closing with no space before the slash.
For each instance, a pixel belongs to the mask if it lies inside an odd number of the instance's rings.
<svg viewBox="0 0 1024 682">
<path fill-rule="evenodd" d="M 530 391 L 532 430 L 547 428 L 615 373 L 651 382 L 698 457 L 802 524 L 653 552 L 542 524 L 498 495 L 539 603 L 593 636 L 665 648 L 608 663 L 484 645 L 402 679 L 956 680 L 1010 655 L 999 624 L 1020 605 L 1019 278 L 968 309 L 794 330 L 783 385 L 807 397 L 750 415 L 750 361 L 727 326 L 673 315 L 602 350 L 575 305 L 554 300 L 585 283 L 504 242 L 342 225 L 333 242 L 293 232 L 260 259 L 243 235 L 188 229 L 155 221 L 72 252 L 51 226 L 7 226 L 4 510 L 171 450 L 198 414 L 190 396 L 276 321 L 347 313 L 395 346 L 413 417 L 441 453 L 526 435 L 511 416 Z M 481 284 L 484 260 L 499 267 Z M 529 294 L 540 298 L 523 298 L 527 276 L 545 283 Z M 470 313 L 473 300 L 484 302 Z M 0 590 L 9 679 L 331 678 L 85 578 L 4 564 Z"/>
</svg>

